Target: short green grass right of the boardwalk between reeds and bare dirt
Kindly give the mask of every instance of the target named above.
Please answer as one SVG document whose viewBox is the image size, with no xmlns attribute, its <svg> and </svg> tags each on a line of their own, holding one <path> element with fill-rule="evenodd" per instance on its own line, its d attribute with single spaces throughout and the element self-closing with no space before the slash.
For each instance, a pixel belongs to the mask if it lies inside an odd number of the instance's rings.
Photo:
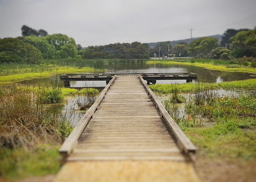
<svg viewBox="0 0 256 182">
<path fill-rule="evenodd" d="M 254 119 L 249 124 L 250 129 L 243 130 L 239 127 L 246 124 L 243 119 L 215 123 L 213 127 L 187 127 L 183 124 L 180 127 L 202 155 L 211 158 L 256 159 L 256 122 Z"/>
</svg>

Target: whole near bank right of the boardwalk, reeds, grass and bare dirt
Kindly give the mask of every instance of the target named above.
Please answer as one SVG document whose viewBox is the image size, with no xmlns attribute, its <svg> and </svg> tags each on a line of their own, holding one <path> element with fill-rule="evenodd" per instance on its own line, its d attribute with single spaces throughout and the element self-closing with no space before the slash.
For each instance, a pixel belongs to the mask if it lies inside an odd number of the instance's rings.
<svg viewBox="0 0 256 182">
<path fill-rule="evenodd" d="M 248 87 L 251 81 L 239 81 L 240 87 Z M 234 88 L 239 82 L 223 85 Z M 163 103 L 197 147 L 195 168 L 199 176 L 205 181 L 226 181 L 227 174 L 231 181 L 256 179 L 256 98 L 248 95 L 221 98 L 214 90 L 220 87 L 217 84 L 183 85 L 169 86 L 170 98 Z M 158 87 L 158 92 L 166 92 L 161 88 L 166 89 Z M 184 94 L 178 94 L 189 91 L 195 94 L 187 100 L 182 99 Z"/>
</svg>

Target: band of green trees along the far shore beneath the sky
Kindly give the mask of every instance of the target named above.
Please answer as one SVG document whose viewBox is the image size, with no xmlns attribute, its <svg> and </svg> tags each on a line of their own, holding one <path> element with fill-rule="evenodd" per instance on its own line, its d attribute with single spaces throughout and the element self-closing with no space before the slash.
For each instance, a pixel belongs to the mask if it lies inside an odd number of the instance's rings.
<svg viewBox="0 0 256 182">
<path fill-rule="evenodd" d="M 150 58 L 154 54 L 175 57 L 196 57 L 212 59 L 232 59 L 243 56 L 256 56 L 256 28 L 228 29 L 221 41 L 217 38 L 202 37 L 191 41 L 180 42 L 172 46 L 169 41 L 161 42 L 156 47 L 149 47 L 146 43 L 115 43 L 105 46 L 89 46 L 82 49 L 76 45 L 72 37 L 63 34 L 48 35 L 43 29 L 39 31 L 22 27 L 22 35 L 16 38 L 0 39 L 0 62 L 38 63 L 40 59 L 140 59 Z"/>
</svg>

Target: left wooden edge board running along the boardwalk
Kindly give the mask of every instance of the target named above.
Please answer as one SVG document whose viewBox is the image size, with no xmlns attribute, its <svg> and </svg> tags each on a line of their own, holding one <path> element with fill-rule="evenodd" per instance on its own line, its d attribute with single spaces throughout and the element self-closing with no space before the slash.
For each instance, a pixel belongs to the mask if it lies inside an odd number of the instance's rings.
<svg viewBox="0 0 256 182">
<path fill-rule="evenodd" d="M 68 135 L 68 138 L 65 139 L 64 143 L 61 145 L 59 152 L 63 155 L 68 155 L 72 152 L 74 146 L 77 144 L 80 135 L 82 134 L 84 128 L 86 127 L 89 120 L 94 115 L 94 112 L 98 109 L 99 104 L 101 104 L 104 99 L 106 92 L 109 90 L 110 86 L 114 82 L 116 76 L 110 80 L 107 86 L 102 90 L 101 94 L 94 102 L 94 104 L 89 108 L 83 118 L 80 119 L 79 123 L 75 126 L 74 130 Z"/>
</svg>

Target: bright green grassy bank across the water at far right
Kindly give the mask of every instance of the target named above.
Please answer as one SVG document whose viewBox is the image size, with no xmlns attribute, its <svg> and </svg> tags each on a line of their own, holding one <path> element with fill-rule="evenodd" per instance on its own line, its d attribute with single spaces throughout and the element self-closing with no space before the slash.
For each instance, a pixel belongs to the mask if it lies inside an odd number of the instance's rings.
<svg viewBox="0 0 256 182">
<path fill-rule="evenodd" d="M 198 61 L 197 61 L 198 60 Z M 162 63 L 162 64 L 181 64 L 181 65 L 191 65 L 197 67 L 207 68 L 209 70 L 218 70 L 218 71 L 229 71 L 229 72 L 247 72 L 247 73 L 256 73 L 256 68 L 248 67 L 248 66 L 240 66 L 237 64 L 229 64 L 226 61 L 226 65 L 222 65 L 225 61 L 221 61 L 222 64 L 215 64 L 217 62 L 214 61 L 205 61 L 202 62 L 200 59 L 195 59 L 192 63 L 191 62 L 181 62 L 181 61 L 167 61 L 167 60 L 150 60 L 147 63 Z M 218 61 L 219 62 L 219 61 Z"/>
</svg>

